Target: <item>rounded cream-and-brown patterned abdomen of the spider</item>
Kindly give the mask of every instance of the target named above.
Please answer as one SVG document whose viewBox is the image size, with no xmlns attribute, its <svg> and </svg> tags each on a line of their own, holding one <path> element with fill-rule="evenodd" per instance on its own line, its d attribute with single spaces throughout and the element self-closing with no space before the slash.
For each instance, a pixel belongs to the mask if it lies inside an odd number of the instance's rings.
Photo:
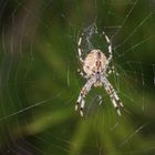
<svg viewBox="0 0 155 155">
<path fill-rule="evenodd" d="M 83 70 L 91 76 L 92 74 L 102 73 L 105 69 L 106 56 L 100 50 L 92 50 L 84 60 Z"/>
</svg>

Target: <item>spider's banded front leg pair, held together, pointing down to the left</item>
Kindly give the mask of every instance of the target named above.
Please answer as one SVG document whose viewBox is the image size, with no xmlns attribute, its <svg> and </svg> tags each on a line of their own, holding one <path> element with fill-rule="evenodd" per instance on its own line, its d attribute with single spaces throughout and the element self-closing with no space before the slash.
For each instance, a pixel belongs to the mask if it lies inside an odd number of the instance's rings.
<svg viewBox="0 0 155 155">
<path fill-rule="evenodd" d="M 76 104 L 75 104 L 75 111 L 80 108 L 80 115 L 83 116 L 83 108 L 85 104 L 85 95 L 90 92 L 93 83 L 95 82 L 94 78 L 91 78 L 85 85 L 82 87 L 80 95 L 78 97 Z M 79 107 L 80 106 L 80 107 Z"/>
</svg>

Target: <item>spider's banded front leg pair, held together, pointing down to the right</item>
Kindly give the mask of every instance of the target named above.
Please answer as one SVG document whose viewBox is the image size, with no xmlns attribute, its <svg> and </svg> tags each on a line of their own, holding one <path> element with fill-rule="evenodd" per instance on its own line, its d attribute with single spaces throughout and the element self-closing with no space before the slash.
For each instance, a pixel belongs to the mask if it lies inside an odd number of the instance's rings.
<svg viewBox="0 0 155 155">
<path fill-rule="evenodd" d="M 123 104 L 122 102 L 120 101 L 120 97 L 116 93 L 116 91 L 114 90 L 113 85 L 108 82 L 108 80 L 106 78 L 103 78 L 102 76 L 102 83 L 104 84 L 105 86 L 105 91 L 107 92 L 107 94 L 110 95 L 111 97 L 111 101 L 114 105 L 114 107 L 116 108 L 117 111 L 117 114 L 121 115 L 121 111 L 120 111 L 120 107 L 123 107 Z"/>
</svg>

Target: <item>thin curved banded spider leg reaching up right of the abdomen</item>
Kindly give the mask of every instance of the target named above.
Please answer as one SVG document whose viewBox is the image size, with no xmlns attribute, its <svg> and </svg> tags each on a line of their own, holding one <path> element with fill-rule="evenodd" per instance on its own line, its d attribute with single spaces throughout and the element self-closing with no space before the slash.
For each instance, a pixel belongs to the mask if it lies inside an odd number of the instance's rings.
<svg viewBox="0 0 155 155">
<path fill-rule="evenodd" d="M 108 49 L 108 59 L 107 59 L 107 63 L 106 63 L 106 66 L 108 65 L 108 63 L 112 61 L 112 58 L 113 58 L 113 53 L 112 53 L 112 42 L 111 40 L 108 39 L 108 37 L 105 34 L 105 32 L 103 31 L 102 34 L 104 35 L 106 42 L 107 42 L 107 49 Z"/>
</svg>

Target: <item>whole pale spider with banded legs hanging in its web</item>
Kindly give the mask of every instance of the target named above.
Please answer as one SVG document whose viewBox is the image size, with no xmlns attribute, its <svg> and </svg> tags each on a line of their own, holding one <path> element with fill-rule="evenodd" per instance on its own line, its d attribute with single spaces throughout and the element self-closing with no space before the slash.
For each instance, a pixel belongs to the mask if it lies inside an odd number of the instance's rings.
<svg viewBox="0 0 155 155">
<path fill-rule="evenodd" d="M 75 111 L 79 111 L 81 116 L 84 116 L 83 114 L 84 104 L 85 104 L 84 99 L 85 99 L 85 95 L 90 92 L 92 85 L 95 87 L 96 86 L 105 87 L 105 91 L 110 95 L 111 102 L 113 106 L 116 108 L 118 115 L 121 115 L 120 107 L 123 107 L 123 104 L 116 91 L 114 90 L 110 81 L 107 80 L 108 74 L 111 74 L 112 70 L 114 69 L 114 66 L 110 68 L 110 63 L 113 59 L 112 43 L 104 31 L 102 34 L 104 35 L 107 42 L 108 58 L 106 58 L 105 54 L 100 49 L 93 49 L 90 51 L 90 53 L 86 55 L 85 59 L 82 59 L 83 50 L 81 49 L 81 43 L 82 43 L 82 38 L 84 35 L 83 33 L 81 34 L 78 41 L 79 59 L 83 66 L 83 72 L 81 72 L 81 75 L 87 79 L 87 82 L 82 87 L 80 95 L 78 97 L 76 104 L 75 104 Z"/>
</svg>

